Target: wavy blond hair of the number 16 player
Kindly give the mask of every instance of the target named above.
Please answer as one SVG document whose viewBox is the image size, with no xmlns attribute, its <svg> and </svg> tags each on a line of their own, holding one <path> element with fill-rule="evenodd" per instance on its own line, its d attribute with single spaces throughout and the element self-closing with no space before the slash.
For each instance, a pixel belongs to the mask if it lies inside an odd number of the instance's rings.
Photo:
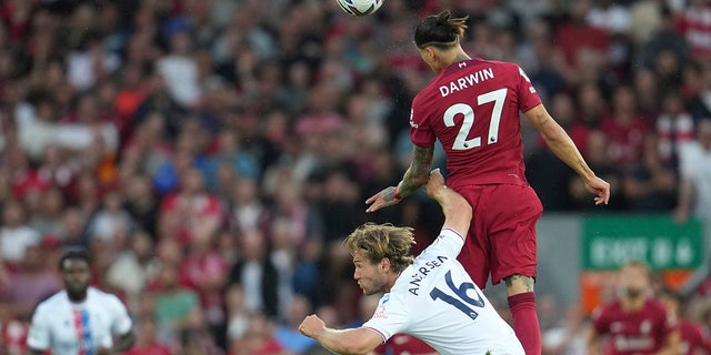
<svg viewBox="0 0 711 355">
<path fill-rule="evenodd" d="M 387 257 L 394 272 L 401 272 L 414 262 L 414 257 L 410 255 L 410 247 L 414 243 L 411 227 L 394 226 L 390 223 L 365 223 L 346 239 L 351 255 L 364 251 L 365 257 L 372 264 L 378 264 Z"/>
</svg>

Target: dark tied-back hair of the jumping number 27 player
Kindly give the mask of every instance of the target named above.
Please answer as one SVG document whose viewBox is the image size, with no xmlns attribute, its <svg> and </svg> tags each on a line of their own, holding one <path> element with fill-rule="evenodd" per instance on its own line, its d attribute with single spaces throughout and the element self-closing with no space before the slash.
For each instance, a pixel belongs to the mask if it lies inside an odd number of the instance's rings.
<svg viewBox="0 0 711 355">
<path fill-rule="evenodd" d="M 423 49 L 433 45 L 449 49 L 464 36 L 469 17 L 452 18 L 449 10 L 424 18 L 414 29 L 414 44 Z"/>
</svg>

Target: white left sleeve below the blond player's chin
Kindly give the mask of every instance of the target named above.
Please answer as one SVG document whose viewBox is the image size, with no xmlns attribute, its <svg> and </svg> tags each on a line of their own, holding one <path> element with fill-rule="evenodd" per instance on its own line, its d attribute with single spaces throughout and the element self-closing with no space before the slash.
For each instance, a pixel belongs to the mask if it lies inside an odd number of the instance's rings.
<svg viewBox="0 0 711 355">
<path fill-rule="evenodd" d="M 404 300 L 391 295 L 385 294 L 380 298 L 373 316 L 361 326 L 380 334 L 383 343 L 394 334 L 403 332 L 410 320 Z"/>
</svg>

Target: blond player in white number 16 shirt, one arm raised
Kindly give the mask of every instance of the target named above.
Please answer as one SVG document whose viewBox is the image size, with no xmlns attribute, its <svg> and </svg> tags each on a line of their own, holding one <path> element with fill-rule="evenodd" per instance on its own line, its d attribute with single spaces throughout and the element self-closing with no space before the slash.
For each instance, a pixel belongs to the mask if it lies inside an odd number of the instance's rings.
<svg viewBox="0 0 711 355">
<path fill-rule="evenodd" d="M 425 192 L 442 206 L 444 225 L 417 257 L 409 254 L 410 227 L 365 223 L 346 240 L 363 293 L 385 293 L 370 321 L 334 329 L 310 315 L 299 329 L 337 354 L 365 354 L 397 333 L 417 336 L 441 354 L 524 354 L 511 326 L 457 261 L 471 206 L 447 187 L 439 170 L 430 173 Z"/>
</svg>

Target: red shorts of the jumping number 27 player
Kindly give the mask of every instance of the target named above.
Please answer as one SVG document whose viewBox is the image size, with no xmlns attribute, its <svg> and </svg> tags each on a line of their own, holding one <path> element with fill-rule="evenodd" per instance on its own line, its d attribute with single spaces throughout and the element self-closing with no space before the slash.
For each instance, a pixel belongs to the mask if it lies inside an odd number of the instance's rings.
<svg viewBox="0 0 711 355">
<path fill-rule="evenodd" d="M 513 274 L 535 277 L 535 223 L 543 205 L 531 186 L 468 185 L 457 189 L 473 209 L 459 262 L 481 288 Z"/>
</svg>

